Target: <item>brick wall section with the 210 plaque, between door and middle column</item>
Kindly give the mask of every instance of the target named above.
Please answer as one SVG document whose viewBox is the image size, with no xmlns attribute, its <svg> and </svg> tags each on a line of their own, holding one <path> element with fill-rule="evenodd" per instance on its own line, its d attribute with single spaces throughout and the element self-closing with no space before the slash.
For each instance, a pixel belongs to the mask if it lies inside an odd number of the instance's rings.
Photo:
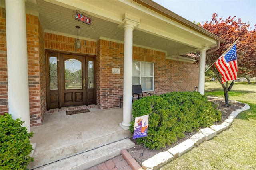
<svg viewBox="0 0 256 170">
<path fill-rule="evenodd" d="M 119 106 L 118 96 L 123 94 L 124 44 L 100 39 L 97 55 L 97 104 L 100 109 Z M 120 68 L 120 74 L 112 74 Z"/>
</svg>

